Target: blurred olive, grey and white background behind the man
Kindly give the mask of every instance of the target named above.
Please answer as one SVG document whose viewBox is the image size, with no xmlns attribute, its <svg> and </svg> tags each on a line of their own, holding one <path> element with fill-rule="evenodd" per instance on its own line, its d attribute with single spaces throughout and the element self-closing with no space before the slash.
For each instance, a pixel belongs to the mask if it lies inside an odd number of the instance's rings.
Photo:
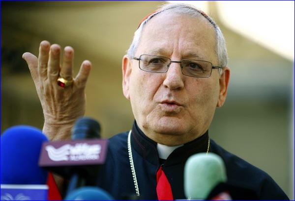
<svg viewBox="0 0 295 201">
<path fill-rule="evenodd" d="M 13 125 L 42 129 L 43 113 L 26 51 L 42 40 L 75 49 L 89 76 L 86 116 L 102 135 L 134 121 L 122 94 L 121 59 L 138 23 L 168 1 L 1 1 L 1 132 Z M 216 110 L 210 137 L 266 171 L 294 199 L 294 1 L 190 1 L 220 26 L 232 70 L 228 98 Z"/>
</svg>

